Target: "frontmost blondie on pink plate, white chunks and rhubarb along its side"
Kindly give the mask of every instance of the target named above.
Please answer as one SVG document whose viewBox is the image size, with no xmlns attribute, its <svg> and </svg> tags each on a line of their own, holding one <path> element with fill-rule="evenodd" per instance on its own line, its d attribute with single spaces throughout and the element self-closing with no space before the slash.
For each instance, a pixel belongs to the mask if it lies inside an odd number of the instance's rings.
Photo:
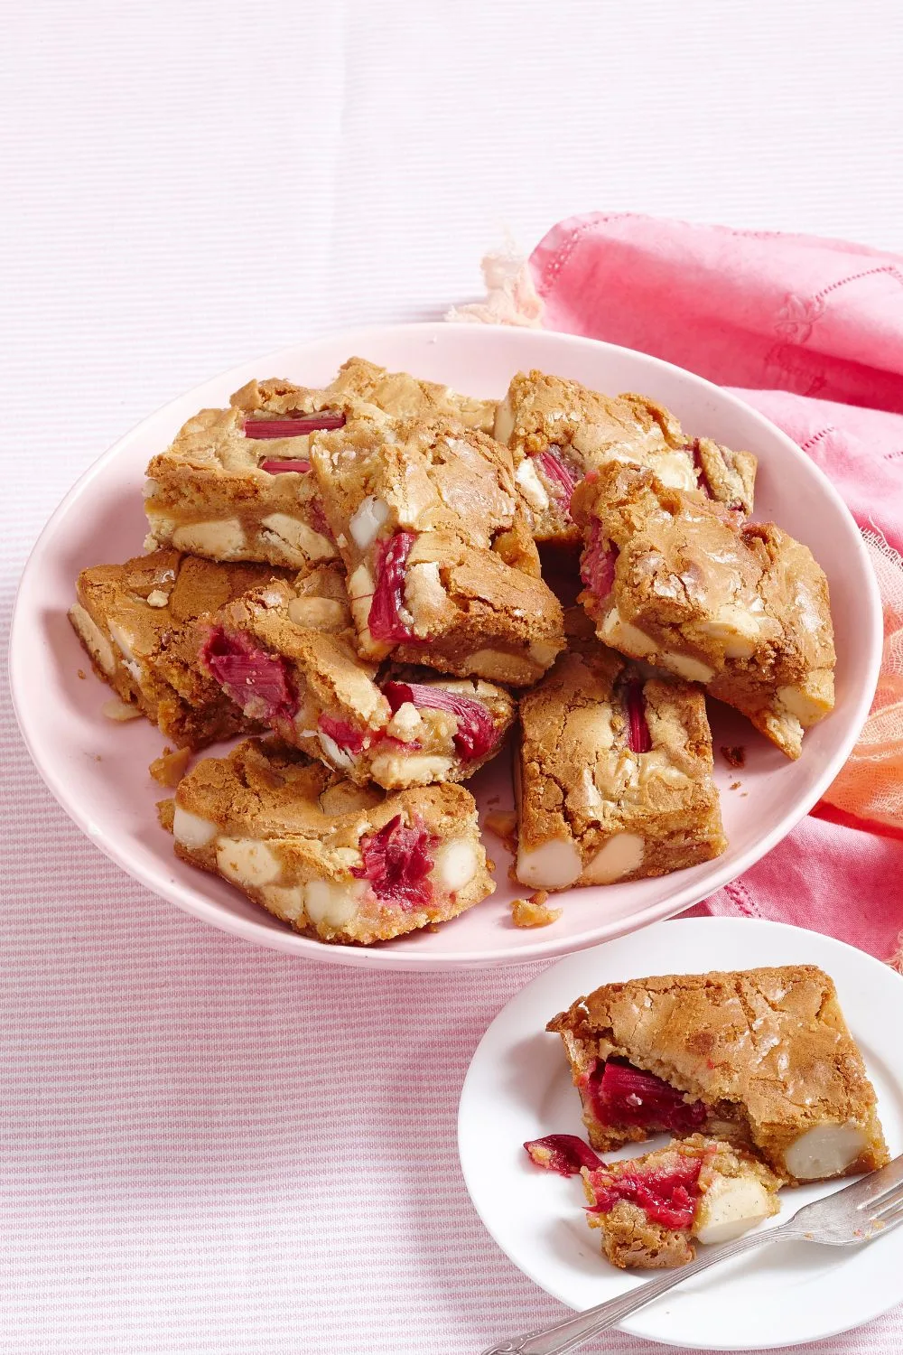
<svg viewBox="0 0 903 1355">
<path fill-rule="evenodd" d="M 183 860 L 326 942 L 389 940 L 494 889 L 463 786 L 387 795 L 278 741 L 199 763 L 176 791 L 172 832 Z"/>
</svg>

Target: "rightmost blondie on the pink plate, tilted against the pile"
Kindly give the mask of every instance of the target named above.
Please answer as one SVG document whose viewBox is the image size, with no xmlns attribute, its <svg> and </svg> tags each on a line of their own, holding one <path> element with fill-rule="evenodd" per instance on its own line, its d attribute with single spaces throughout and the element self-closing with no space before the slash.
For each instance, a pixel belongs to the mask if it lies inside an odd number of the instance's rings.
<svg viewBox="0 0 903 1355">
<path fill-rule="evenodd" d="M 827 580 L 808 547 L 634 466 L 592 472 L 573 511 L 598 638 L 704 683 L 799 757 L 834 706 Z"/>
</svg>

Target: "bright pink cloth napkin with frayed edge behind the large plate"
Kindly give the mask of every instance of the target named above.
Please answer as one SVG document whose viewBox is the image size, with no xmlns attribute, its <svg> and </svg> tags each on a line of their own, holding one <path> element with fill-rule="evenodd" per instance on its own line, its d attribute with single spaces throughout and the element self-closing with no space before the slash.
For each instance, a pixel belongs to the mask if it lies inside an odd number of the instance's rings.
<svg viewBox="0 0 903 1355">
<path fill-rule="evenodd" d="M 700 909 L 811 927 L 899 963 L 903 259 L 841 240 L 594 213 L 554 226 L 529 270 L 547 328 L 743 388 L 735 393 L 818 462 L 864 530 L 887 629 L 868 738 L 814 814 Z M 514 305 L 535 322 L 517 293 Z"/>
</svg>

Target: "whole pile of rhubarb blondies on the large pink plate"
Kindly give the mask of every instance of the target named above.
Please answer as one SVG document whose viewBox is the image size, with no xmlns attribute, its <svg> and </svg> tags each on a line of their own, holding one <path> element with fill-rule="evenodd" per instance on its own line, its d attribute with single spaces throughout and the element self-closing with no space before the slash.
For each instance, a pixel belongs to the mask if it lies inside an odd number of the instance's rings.
<svg viewBox="0 0 903 1355">
<path fill-rule="evenodd" d="M 177 855 L 383 940 L 493 892 L 460 783 L 514 722 L 525 886 L 724 850 L 705 692 L 789 757 L 833 705 L 824 576 L 749 520 L 754 478 L 640 396 L 532 371 L 497 405 L 352 358 L 191 419 L 148 467 L 148 553 L 83 570 L 70 618 L 114 714 L 190 752 L 267 736 L 181 776 Z"/>
</svg>

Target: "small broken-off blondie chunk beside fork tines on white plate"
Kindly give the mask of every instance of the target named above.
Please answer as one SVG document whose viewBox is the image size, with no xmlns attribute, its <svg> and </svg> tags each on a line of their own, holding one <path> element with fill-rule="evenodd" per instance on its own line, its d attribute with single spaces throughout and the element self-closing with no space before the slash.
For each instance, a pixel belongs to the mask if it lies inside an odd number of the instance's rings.
<svg viewBox="0 0 903 1355">
<path fill-rule="evenodd" d="M 582 1168 L 586 1221 L 621 1268 L 684 1266 L 780 1211 L 781 1180 L 751 1153 L 693 1134 L 643 1157 Z"/>
</svg>

